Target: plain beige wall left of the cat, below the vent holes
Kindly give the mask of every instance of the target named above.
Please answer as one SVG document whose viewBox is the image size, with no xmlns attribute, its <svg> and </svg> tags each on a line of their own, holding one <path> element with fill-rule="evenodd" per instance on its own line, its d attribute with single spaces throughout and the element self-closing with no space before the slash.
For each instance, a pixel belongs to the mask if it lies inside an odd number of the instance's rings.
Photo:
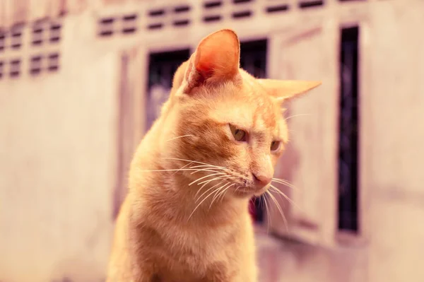
<svg viewBox="0 0 424 282">
<path fill-rule="evenodd" d="M 1 281 L 100 281 L 105 272 L 119 61 L 87 48 L 83 18 L 64 26 L 57 74 L 25 67 L 0 81 Z"/>
</svg>

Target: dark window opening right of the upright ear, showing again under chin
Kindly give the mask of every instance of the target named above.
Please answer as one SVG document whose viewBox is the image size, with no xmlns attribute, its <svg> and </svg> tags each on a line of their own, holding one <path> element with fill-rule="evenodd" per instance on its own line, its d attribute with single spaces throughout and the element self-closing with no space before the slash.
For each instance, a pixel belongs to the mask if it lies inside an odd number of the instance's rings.
<svg viewBox="0 0 424 282">
<path fill-rule="evenodd" d="M 266 78 L 267 40 L 241 42 L 240 67 L 256 78 Z M 264 199 L 254 198 L 250 205 L 254 221 L 264 222 Z"/>
</svg>

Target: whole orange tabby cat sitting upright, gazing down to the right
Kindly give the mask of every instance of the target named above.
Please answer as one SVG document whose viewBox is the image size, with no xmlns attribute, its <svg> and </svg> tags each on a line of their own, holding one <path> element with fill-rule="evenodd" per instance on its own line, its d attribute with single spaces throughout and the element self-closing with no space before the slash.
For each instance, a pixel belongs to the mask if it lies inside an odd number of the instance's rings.
<svg viewBox="0 0 424 282">
<path fill-rule="evenodd" d="M 108 282 L 257 281 L 253 195 L 288 141 L 281 102 L 320 83 L 256 79 L 232 30 L 204 38 L 137 149 Z"/>
</svg>

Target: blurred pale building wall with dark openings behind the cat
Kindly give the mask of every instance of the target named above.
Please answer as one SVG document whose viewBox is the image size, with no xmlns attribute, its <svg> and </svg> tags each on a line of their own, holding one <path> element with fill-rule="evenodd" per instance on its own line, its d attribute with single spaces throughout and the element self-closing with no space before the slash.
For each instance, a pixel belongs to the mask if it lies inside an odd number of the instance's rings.
<svg viewBox="0 0 424 282">
<path fill-rule="evenodd" d="M 134 148 L 220 28 L 254 76 L 323 81 L 287 105 L 288 223 L 252 201 L 260 281 L 424 281 L 423 15 L 421 0 L 1 0 L 0 281 L 104 281 Z"/>
</svg>

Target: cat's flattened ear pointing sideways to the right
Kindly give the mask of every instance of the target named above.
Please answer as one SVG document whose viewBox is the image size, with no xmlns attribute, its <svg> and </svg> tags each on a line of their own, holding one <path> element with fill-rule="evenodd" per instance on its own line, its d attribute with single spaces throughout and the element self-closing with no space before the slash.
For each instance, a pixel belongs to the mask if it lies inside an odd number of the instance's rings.
<svg viewBox="0 0 424 282">
<path fill-rule="evenodd" d="M 257 81 L 278 102 L 298 97 L 322 84 L 321 81 L 283 81 L 278 79 L 258 79 Z"/>
</svg>

